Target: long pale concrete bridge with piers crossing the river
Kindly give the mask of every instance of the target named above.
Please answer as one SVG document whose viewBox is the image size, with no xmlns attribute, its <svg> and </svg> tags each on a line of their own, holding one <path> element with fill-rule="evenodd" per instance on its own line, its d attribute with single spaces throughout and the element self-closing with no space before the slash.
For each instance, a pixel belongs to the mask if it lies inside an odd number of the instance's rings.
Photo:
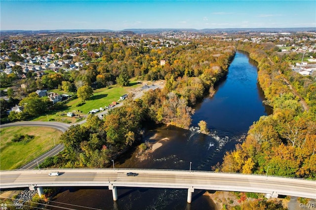
<svg viewBox="0 0 316 210">
<path fill-rule="evenodd" d="M 58 176 L 49 176 L 51 172 Z M 138 173 L 127 176 L 126 173 Z M 298 178 L 156 169 L 38 169 L 0 171 L 0 189 L 29 187 L 105 186 L 118 199 L 117 187 L 188 189 L 191 203 L 195 189 L 265 193 L 267 198 L 288 195 L 316 199 L 316 180 Z"/>
</svg>

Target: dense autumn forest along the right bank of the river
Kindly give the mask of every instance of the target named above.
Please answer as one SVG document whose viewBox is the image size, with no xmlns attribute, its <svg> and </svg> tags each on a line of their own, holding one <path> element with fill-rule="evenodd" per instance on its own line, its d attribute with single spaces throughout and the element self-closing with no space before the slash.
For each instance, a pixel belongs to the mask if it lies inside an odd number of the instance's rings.
<svg viewBox="0 0 316 210">
<path fill-rule="evenodd" d="M 258 63 L 258 81 L 274 111 L 250 127 L 217 170 L 316 178 L 315 80 L 293 72 L 289 54 L 277 53 L 273 43 L 239 43 L 237 49 Z"/>
</svg>

